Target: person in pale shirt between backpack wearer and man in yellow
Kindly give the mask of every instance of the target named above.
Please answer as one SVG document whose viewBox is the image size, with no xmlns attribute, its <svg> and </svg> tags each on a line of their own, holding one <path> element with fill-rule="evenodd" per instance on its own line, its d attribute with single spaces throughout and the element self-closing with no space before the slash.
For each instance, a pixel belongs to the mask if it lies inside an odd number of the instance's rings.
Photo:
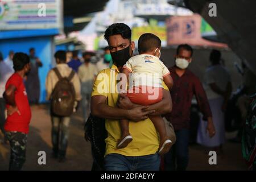
<svg viewBox="0 0 256 182">
<path fill-rule="evenodd" d="M 82 112 L 84 114 L 84 122 L 89 117 L 90 113 L 90 95 L 92 93 L 94 77 L 97 75 L 97 68 L 94 64 L 90 63 L 93 54 L 91 52 L 84 52 L 82 57 L 84 63 L 78 69 L 78 76 L 81 82 L 82 94 Z"/>
</svg>

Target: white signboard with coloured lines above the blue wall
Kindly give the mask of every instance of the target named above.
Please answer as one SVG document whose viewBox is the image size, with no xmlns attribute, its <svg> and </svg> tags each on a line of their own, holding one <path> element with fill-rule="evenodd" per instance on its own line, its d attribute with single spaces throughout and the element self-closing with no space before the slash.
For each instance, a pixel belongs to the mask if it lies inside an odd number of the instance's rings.
<svg viewBox="0 0 256 182">
<path fill-rule="evenodd" d="M 0 0 L 0 30 L 63 28 L 62 0 Z"/>
</svg>

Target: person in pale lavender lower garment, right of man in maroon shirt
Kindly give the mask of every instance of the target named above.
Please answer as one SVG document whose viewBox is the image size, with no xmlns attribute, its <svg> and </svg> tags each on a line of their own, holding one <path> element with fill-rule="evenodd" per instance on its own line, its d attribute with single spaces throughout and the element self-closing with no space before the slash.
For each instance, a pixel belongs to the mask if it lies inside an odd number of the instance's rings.
<svg viewBox="0 0 256 182">
<path fill-rule="evenodd" d="M 210 138 L 205 130 L 207 122 L 201 119 L 197 130 L 197 143 L 203 146 L 213 147 L 213 150 L 222 153 L 222 144 L 225 142 L 224 111 L 232 92 L 232 84 L 229 72 L 220 64 L 221 52 L 213 49 L 210 53 L 211 66 L 204 75 L 205 92 L 212 110 L 213 122 L 216 134 Z"/>
</svg>

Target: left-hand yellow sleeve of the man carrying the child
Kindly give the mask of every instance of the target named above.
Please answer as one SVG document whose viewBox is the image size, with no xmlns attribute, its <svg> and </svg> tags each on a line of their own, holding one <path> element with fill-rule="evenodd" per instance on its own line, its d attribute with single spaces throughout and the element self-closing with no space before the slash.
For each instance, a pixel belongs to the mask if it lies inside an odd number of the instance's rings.
<svg viewBox="0 0 256 182">
<path fill-rule="evenodd" d="M 108 97 L 108 85 L 109 75 L 105 72 L 105 69 L 100 71 L 96 76 L 93 83 L 92 96 L 105 96 Z"/>
</svg>

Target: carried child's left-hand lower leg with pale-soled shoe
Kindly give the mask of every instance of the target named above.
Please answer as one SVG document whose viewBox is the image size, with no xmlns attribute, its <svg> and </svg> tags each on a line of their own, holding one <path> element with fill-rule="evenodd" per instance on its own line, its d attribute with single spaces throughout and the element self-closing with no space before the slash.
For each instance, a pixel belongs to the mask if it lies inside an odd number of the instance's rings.
<svg viewBox="0 0 256 182">
<path fill-rule="evenodd" d="M 133 140 L 133 137 L 131 137 L 129 132 L 129 121 L 127 119 L 121 119 L 119 123 L 122 134 L 117 142 L 117 148 L 125 148 Z"/>
</svg>

